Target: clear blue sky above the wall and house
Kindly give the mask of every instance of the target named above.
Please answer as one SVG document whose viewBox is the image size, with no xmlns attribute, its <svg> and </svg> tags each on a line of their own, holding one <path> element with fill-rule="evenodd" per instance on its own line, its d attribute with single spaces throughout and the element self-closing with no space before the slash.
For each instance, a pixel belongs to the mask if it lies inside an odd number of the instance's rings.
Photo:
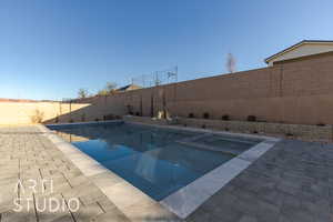
<svg viewBox="0 0 333 222">
<path fill-rule="evenodd" d="M 1 0 L 0 98 L 75 98 L 178 65 L 223 74 L 303 39 L 333 40 L 332 0 Z"/>
</svg>

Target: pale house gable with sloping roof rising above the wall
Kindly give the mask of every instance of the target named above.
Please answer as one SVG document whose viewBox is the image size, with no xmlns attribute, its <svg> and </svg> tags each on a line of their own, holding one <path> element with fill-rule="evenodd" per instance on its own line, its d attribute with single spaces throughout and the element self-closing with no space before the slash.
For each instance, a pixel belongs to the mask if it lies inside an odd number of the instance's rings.
<svg viewBox="0 0 333 222">
<path fill-rule="evenodd" d="M 329 40 L 303 40 L 290 48 L 286 48 L 268 59 L 265 59 L 265 63 L 269 67 L 273 65 L 274 62 L 284 61 L 290 59 L 296 59 L 301 57 L 320 54 L 324 52 L 333 51 L 333 41 Z"/>
</svg>

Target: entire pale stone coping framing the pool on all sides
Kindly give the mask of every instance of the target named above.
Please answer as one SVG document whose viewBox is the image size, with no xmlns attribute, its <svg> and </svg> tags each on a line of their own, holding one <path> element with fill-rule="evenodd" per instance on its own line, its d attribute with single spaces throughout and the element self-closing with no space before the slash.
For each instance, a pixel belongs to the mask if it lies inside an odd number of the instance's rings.
<svg viewBox="0 0 333 222">
<path fill-rule="evenodd" d="M 39 125 L 43 134 L 50 139 L 59 150 L 61 150 L 67 158 L 69 158 L 81 171 L 82 173 L 92 180 L 92 182 L 101 189 L 101 191 L 129 218 L 138 216 L 133 215 L 133 211 L 130 208 L 135 208 L 140 213 L 142 211 L 161 211 L 160 208 L 168 209 L 168 211 L 174 213 L 180 219 L 185 219 L 192 212 L 194 212 L 204 201 L 211 198 L 214 193 L 226 185 L 232 179 L 238 176 L 242 171 L 249 168 L 255 160 L 263 155 L 266 151 L 273 148 L 281 139 L 266 137 L 266 135 L 253 135 L 245 133 L 231 133 L 224 131 L 215 131 L 209 129 L 196 129 L 196 128 L 184 128 L 178 125 L 159 125 L 149 123 L 139 123 L 132 121 L 114 120 L 114 121 L 102 121 L 102 122 L 80 122 L 80 123 L 62 123 L 62 124 L 48 124 L 48 125 L 74 125 L 74 124 L 91 124 L 91 123 L 117 123 L 125 122 L 130 124 L 139 125 L 150 125 L 155 128 L 182 130 L 182 131 L 193 131 L 202 132 L 215 135 L 231 135 L 241 138 L 252 138 L 262 140 L 258 144 L 253 145 L 245 152 L 239 154 L 238 157 L 231 159 L 230 161 L 223 163 L 222 165 L 215 168 L 214 170 L 208 172 L 206 174 L 194 180 L 190 184 L 181 188 L 169 196 L 161 201 L 155 201 L 144 192 L 133 186 L 131 183 L 127 182 L 124 179 L 118 176 L 115 173 L 109 169 L 101 165 L 99 162 L 80 151 L 77 147 L 62 140 L 54 132 L 44 125 Z M 103 178 L 103 179 L 101 179 Z M 114 191 L 112 181 L 119 181 L 115 185 Z M 195 193 L 195 195 L 193 195 Z M 131 194 L 131 198 L 124 198 L 121 195 Z M 125 199 L 121 200 L 121 199 Z M 150 205 L 149 209 L 147 205 Z M 144 210 L 140 210 L 144 209 Z M 145 213 L 149 213 L 145 212 Z M 138 213 L 138 211 L 135 211 Z M 164 212 L 165 214 L 165 212 Z"/>
</svg>

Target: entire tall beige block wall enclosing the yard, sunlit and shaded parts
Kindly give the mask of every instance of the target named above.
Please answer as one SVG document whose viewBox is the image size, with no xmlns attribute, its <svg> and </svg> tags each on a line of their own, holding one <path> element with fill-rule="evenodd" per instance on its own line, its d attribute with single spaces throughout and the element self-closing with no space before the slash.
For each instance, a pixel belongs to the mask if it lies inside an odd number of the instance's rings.
<svg viewBox="0 0 333 222">
<path fill-rule="evenodd" d="M 123 115 L 128 105 L 149 117 L 167 109 L 172 115 L 194 113 L 211 119 L 229 114 L 233 120 L 255 115 L 268 122 L 333 124 L 333 53 L 280 62 L 273 67 L 134 90 L 110 97 L 95 97 L 69 104 L 0 103 L 0 124 L 29 123 L 36 109 L 46 113 L 44 122 L 102 120 Z M 142 104 L 142 105 L 141 105 Z"/>
</svg>

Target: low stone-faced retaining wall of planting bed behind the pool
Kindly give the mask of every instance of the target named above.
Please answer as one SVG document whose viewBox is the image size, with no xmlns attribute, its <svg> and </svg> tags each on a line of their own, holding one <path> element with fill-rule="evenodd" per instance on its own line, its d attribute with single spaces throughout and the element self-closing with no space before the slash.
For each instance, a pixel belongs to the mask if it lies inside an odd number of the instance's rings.
<svg viewBox="0 0 333 222">
<path fill-rule="evenodd" d="M 192 118 L 178 118 L 172 122 L 157 120 L 144 117 L 123 117 L 124 121 L 141 122 L 147 124 L 178 124 L 191 128 L 205 128 L 212 130 L 259 133 L 268 135 L 278 135 L 286 138 L 296 138 L 306 141 L 332 141 L 332 125 L 305 125 L 305 124 L 284 124 L 269 122 L 249 122 L 249 121 L 223 121 Z"/>
</svg>

